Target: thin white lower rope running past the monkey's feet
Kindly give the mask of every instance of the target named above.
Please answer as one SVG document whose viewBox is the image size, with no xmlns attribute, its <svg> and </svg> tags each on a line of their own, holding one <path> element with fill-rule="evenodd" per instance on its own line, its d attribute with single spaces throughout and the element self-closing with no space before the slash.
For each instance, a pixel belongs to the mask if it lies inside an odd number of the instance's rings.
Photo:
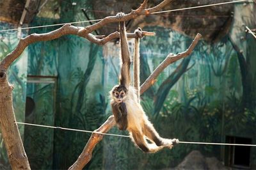
<svg viewBox="0 0 256 170">
<path fill-rule="evenodd" d="M 38 125 L 38 124 L 33 124 L 33 123 L 22 123 L 22 122 L 16 122 L 16 123 L 20 124 L 20 125 L 29 125 L 29 126 L 34 126 L 34 127 L 56 128 L 56 129 L 61 129 L 61 130 L 71 130 L 71 131 L 86 132 L 86 133 L 91 133 L 91 134 L 113 135 L 113 136 L 118 136 L 118 137 L 129 137 L 129 135 L 106 134 L 106 133 L 102 133 L 102 132 L 95 132 L 95 131 L 90 131 L 90 130 L 80 130 L 80 129 L 75 129 L 75 128 L 52 127 L 52 126 L 47 126 L 47 125 Z M 199 142 L 185 142 L 185 141 L 179 141 L 179 143 L 184 143 L 184 144 L 228 145 L 228 146 L 253 146 L 253 147 L 256 147 L 256 144 L 199 143 Z"/>
</svg>

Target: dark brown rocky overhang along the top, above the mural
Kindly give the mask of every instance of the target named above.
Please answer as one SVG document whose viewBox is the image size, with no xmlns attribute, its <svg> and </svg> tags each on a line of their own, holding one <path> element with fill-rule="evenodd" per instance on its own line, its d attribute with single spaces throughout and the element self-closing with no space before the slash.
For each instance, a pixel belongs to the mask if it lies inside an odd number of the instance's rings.
<svg viewBox="0 0 256 170">
<path fill-rule="evenodd" d="M 223 2 L 223 0 L 173 0 L 172 3 L 166 5 L 163 10 L 173 10 L 221 2 Z M 93 10 L 91 13 L 99 19 L 102 18 L 102 15 L 108 16 L 113 12 L 130 12 L 131 9 L 136 8 L 140 3 L 141 1 L 134 0 L 94 0 L 92 2 Z M 159 1 L 148 1 L 148 6 L 155 6 L 157 3 L 159 3 Z M 232 26 L 232 20 L 234 20 L 232 12 L 234 12 L 234 4 L 159 13 L 157 15 L 150 15 L 149 17 L 141 15 L 136 20 L 131 20 L 127 29 L 133 30 L 137 27 L 161 26 L 191 37 L 195 37 L 196 33 L 200 32 L 205 40 L 215 42 L 227 35 L 228 30 Z M 99 29 L 99 33 L 108 35 L 109 33 L 116 31 L 116 26 L 116 24 L 110 24 L 109 27 L 102 27 Z"/>
</svg>

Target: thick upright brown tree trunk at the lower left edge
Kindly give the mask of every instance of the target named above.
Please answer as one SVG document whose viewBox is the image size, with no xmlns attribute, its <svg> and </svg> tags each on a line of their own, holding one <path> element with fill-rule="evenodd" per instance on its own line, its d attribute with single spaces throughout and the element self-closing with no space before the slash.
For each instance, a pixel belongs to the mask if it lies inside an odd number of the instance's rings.
<svg viewBox="0 0 256 170">
<path fill-rule="evenodd" d="M 0 72 L 0 125 L 8 159 L 12 169 L 30 169 L 19 128 L 15 123 L 12 105 L 13 86 L 9 84 L 6 72 Z"/>
</svg>

